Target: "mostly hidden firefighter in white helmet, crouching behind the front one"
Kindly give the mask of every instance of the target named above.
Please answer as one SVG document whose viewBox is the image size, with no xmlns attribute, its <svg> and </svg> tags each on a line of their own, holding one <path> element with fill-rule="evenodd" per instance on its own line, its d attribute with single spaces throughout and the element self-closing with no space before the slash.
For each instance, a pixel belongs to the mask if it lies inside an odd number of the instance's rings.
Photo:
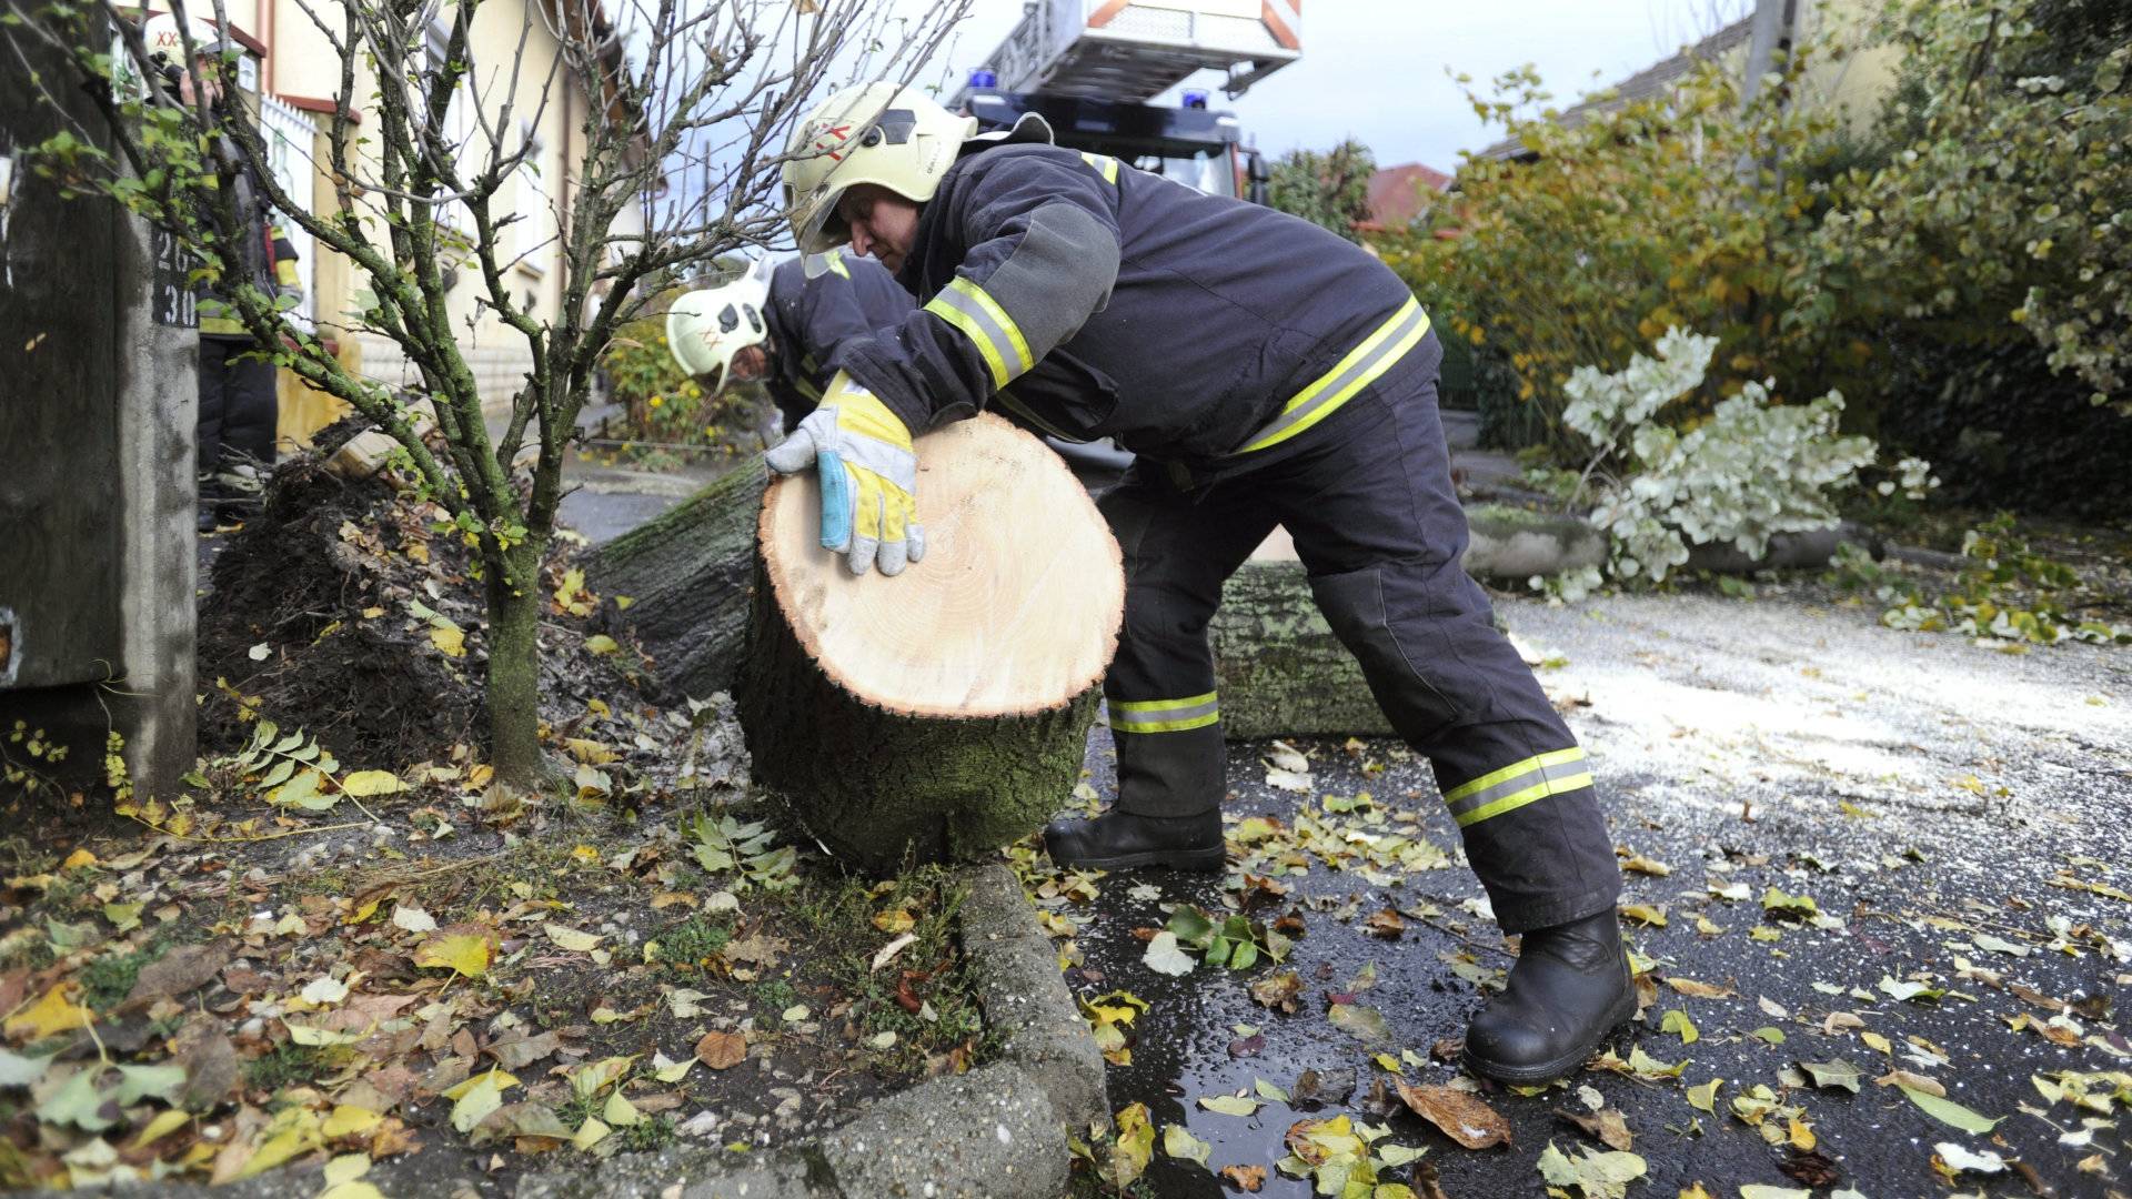
<svg viewBox="0 0 2132 1199">
<path fill-rule="evenodd" d="M 772 265 L 689 292 L 667 309 L 667 348 L 704 395 L 761 382 L 791 433 L 821 403 L 829 354 L 851 337 L 889 329 L 917 303 L 872 258 L 842 250 Z"/>
</svg>

